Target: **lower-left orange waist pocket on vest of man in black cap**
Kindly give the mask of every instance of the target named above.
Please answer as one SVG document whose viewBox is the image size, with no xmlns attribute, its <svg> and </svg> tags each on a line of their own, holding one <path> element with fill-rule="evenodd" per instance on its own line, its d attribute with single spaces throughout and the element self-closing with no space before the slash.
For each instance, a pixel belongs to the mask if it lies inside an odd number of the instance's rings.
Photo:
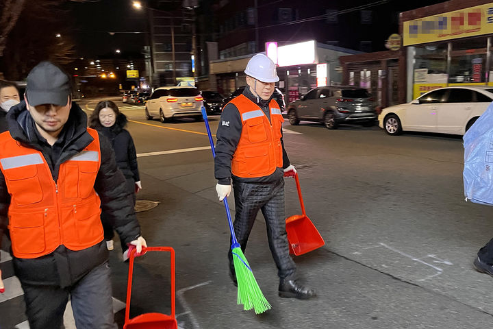
<svg viewBox="0 0 493 329">
<path fill-rule="evenodd" d="M 9 217 L 14 254 L 39 254 L 45 251 L 44 214 L 12 212 Z"/>
</svg>

